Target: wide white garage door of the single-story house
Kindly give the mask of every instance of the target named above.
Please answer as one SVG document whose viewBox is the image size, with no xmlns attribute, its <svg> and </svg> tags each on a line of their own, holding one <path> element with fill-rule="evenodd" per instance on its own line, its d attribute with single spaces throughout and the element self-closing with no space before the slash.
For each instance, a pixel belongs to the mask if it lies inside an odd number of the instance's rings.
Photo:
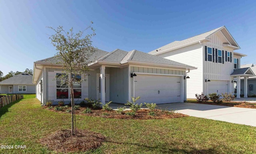
<svg viewBox="0 0 256 154">
<path fill-rule="evenodd" d="M 180 102 L 180 76 L 134 76 L 134 94 L 140 96 L 137 103 Z"/>
</svg>

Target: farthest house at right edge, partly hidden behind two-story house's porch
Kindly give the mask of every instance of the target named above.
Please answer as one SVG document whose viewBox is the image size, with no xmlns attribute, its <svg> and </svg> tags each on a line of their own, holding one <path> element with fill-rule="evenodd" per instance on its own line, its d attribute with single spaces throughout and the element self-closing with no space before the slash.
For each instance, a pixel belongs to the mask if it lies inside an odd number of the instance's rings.
<svg viewBox="0 0 256 154">
<path fill-rule="evenodd" d="M 241 68 L 248 68 L 256 74 L 256 66 L 254 64 L 244 64 Z M 241 78 L 241 94 L 244 94 L 244 78 Z M 247 79 L 247 94 L 248 96 L 256 96 L 256 76 L 251 76 Z"/>
</svg>

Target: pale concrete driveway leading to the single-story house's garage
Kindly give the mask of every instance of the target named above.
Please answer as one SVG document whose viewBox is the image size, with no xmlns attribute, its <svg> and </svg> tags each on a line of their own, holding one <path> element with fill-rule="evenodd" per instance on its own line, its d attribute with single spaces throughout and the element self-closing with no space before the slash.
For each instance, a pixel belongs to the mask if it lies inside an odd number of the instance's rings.
<svg viewBox="0 0 256 154">
<path fill-rule="evenodd" d="M 158 104 L 158 108 L 177 110 L 178 113 L 199 118 L 220 120 L 235 124 L 245 124 L 256 127 L 256 109 L 237 108 L 196 103 Z"/>
</svg>

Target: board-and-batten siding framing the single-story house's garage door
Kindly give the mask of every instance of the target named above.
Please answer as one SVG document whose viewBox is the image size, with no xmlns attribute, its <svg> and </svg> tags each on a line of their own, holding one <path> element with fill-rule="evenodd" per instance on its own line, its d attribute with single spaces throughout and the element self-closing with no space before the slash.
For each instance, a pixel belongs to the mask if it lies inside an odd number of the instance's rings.
<svg viewBox="0 0 256 154">
<path fill-rule="evenodd" d="M 130 73 L 141 72 L 141 73 L 152 73 L 152 74 L 174 74 L 174 75 L 183 75 L 185 76 L 185 70 L 170 70 L 170 69 L 161 69 L 161 68 L 148 68 L 148 67 L 136 67 L 130 66 Z M 133 79 L 130 78 L 130 94 L 133 97 Z M 186 84 L 184 84 L 184 94 L 186 92 Z M 184 95 L 184 100 L 186 100 L 186 96 Z"/>
</svg>

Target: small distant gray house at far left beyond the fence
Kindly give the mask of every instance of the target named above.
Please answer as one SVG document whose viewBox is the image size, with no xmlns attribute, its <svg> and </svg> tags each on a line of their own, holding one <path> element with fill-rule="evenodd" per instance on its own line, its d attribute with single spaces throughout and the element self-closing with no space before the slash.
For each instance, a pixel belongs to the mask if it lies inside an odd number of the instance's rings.
<svg viewBox="0 0 256 154">
<path fill-rule="evenodd" d="M 0 94 L 35 94 L 33 76 L 23 72 L 0 82 Z"/>
</svg>

